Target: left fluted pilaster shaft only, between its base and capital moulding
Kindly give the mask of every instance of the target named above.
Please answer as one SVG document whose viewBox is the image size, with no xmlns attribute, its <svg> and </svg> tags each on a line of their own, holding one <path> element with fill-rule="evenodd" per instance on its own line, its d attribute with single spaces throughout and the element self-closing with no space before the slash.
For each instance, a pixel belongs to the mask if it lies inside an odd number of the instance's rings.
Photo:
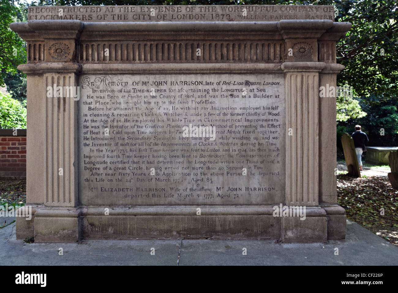
<svg viewBox="0 0 398 293">
<path fill-rule="evenodd" d="M 77 93 L 74 73 L 45 73 L 46 96 L 46 144 L 45 181 L 46 206 L 76 206 L 77 202 Z M 68 88 L 72 94 L 57 97 L 54 89 Z"/>
</svg>

